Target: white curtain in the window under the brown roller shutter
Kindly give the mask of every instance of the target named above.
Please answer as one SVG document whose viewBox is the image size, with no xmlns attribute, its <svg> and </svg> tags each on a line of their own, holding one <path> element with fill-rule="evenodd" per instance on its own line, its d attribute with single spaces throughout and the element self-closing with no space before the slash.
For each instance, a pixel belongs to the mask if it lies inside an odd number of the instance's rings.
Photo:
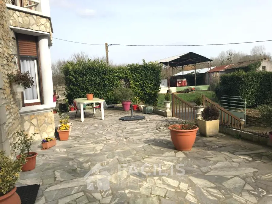
<svg viewBox="0 0 272 204">
<path fill-rule="evenodd" d="M 29 71 L 30 76 L 33 77 L 34 87 L 24 89 L 24 100 L 34 100 L 38 99 L 37 93 L 37 79 L 36 79 L 36 69 L 35 63 L 37 62 L 35 58 L 30 57 L 20 57 L 21 71 L 22 73 Z"/>
</svg>

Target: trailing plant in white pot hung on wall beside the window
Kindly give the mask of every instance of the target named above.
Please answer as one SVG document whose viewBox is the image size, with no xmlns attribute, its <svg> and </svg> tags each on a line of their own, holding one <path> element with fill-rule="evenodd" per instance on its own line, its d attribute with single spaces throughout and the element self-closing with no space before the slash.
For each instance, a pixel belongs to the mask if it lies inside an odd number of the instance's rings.
<svg viewBox="0 0 272 204">
<path fill-rule="evenodd" d="M 21 71 L 12 72 L 7 74 L 11 83 L 12 89 L 16 92 L 22 92 L 34 86 L 33 77 L 30 77 L 29 71 L 21 73 Z"/>
</svg>

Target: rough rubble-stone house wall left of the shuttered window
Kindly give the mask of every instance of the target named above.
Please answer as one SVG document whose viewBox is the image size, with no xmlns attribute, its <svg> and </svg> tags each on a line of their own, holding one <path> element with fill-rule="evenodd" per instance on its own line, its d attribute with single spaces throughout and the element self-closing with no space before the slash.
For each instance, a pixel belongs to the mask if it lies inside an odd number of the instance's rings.
<svg viewBox="0 0 272 204">
<path fill-rule="evenodd" d="M 21 96 L 13 92 L 7 77 L 8 72 L 17 70 L 16 58 L 9 54 L 17 54 L 16 40 L 13 31 L 9 28 L 9 15 L 5 2 L 0 0 L 0 149 L 9 154 L 16 131 L 21 129 Z M 6 117 L 5 117 L 5 116 Z M 13 155 L 13 152 L 11 152 Z"/>
</svg>

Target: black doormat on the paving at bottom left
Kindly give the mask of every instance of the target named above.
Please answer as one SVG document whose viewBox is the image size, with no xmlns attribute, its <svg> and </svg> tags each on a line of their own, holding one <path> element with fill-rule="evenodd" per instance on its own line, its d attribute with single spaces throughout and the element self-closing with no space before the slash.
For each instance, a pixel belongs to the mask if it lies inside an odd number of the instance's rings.
<svg viewBox="0 0 272 204">
<path fill-rule="evenodd" d="M 29 185 L 17 187 L 16 193 L 18 193 L 21 204 L 34 204 L 38 195 L 40 185 Z"/>
</svg>

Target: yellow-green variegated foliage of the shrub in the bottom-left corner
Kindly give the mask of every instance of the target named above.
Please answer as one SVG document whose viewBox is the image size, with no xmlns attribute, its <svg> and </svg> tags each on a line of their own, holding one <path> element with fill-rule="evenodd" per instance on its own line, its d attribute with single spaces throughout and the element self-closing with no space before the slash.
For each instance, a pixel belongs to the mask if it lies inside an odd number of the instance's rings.
<svg viewBox="0 0 272 204">
<path fill-rule="evenodd" d="M 0 150 L 0 196 L 10 192 L 15 187 L 23 164 L 25 164 L 25 155 L 17 160 L 12 160 L 5 156 L 5 151 Z"/>
</svg>

